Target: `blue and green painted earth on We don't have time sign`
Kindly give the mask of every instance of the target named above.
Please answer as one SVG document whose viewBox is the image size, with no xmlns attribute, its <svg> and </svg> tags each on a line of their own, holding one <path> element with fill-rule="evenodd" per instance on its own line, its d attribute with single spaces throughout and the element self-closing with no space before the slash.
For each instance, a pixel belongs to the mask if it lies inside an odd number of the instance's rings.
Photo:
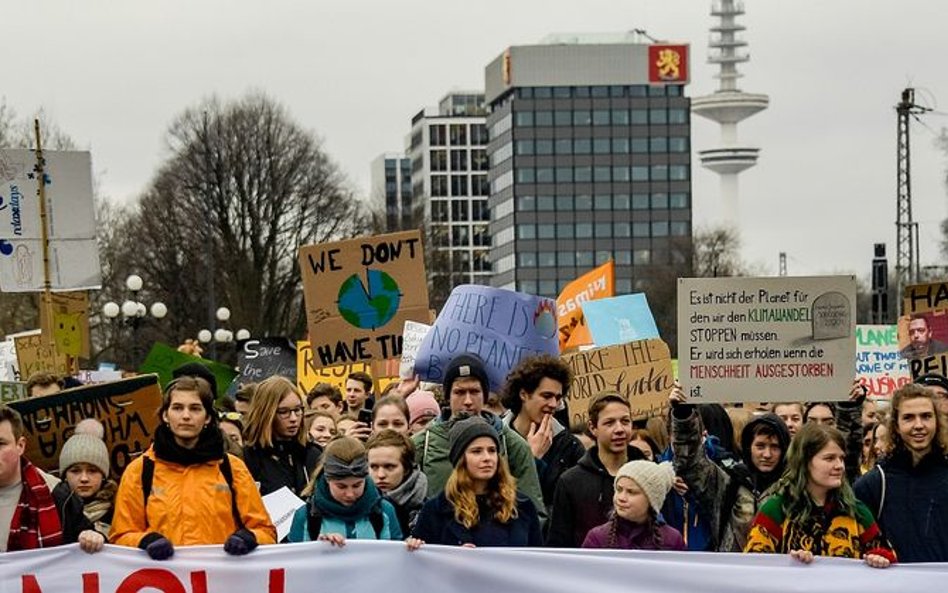
<svg viewBox="0 0 948 593">
<path fill-rule="evenodd" d="M 359 329 L 376 329 L 398 312 L 402 294 L 395 280 L 380 270 L 367 270 L 366 285 L 359 274 L 339 287 L 339 314 Z"/>
</svg>

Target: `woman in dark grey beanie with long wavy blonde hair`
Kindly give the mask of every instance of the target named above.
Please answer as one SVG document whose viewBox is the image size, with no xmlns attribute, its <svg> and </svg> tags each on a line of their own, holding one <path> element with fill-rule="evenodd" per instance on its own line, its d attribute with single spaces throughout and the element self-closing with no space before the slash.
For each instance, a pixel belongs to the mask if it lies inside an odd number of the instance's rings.
<svg viewBox="0 0 948 593">
<path fill-rule="evenodd" d="M 447 484 L 421 508 L 412 536 L 446 546 L 543 545 L 537 507 L 517 491 L 493 426 L 477 416 L 455 422 L 449 444 Z"/>
</svg>

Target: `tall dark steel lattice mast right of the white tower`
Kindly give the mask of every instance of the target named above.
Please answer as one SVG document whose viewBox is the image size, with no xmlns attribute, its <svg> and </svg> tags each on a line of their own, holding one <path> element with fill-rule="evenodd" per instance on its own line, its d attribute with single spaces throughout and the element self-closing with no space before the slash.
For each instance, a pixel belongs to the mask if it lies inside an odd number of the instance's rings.
<svg viewBox="0 0 948 593">
<path fill-rule="evenodd" d="M 902 91 L 902 100 L 895 108 L 898 114 L 896 218 L 895 218 L 895 277 L 896 298 L 901 303 L 902 293 L 909 284 L 919 280 L 918 223 L 912 220 L 912 174 L 909 142 L 909 118 L 930 111 L 915 104 L 915 89 Z M 901 306 L 899 307 L 901 310 Z"/>
</svg>

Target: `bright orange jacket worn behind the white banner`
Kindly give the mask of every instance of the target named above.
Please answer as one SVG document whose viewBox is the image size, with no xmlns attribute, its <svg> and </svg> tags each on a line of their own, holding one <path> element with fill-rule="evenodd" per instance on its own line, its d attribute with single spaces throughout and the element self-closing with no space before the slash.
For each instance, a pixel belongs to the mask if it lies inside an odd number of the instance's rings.
<svg viewBox="0 0 948 593">
<path fill-rule="evenodd" d="M 178 465 L 162 461 L 153 448 L 145 451 L 155 462 L 151 495 L 145 512 L 142 493 L 142 459 L 132 461 L 122 474 L 115 496 L 115 517 L 109 542 L 138 547 L 152 532 L 176 546 L 223 544 L 237 531 L 231 511 L 231 493 L 220 471 L 220 461 Z M 276 528 L 244 462 L 230 456 L 237 508 L 244 526 L 258 544 L 276 543 Z"/>
</svg>

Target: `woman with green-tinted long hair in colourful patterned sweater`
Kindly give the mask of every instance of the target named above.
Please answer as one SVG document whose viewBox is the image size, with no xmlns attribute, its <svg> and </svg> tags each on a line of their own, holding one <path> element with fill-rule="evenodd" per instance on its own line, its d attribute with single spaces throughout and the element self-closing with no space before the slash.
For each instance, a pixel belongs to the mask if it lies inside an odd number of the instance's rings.
<svg viewBox="0 0 948 593">
<path fill-rule="evenodd" d="M 744 552 L 862 558 L 874 568 L 895 562 L 866 505 L 846 481 L 846 442 L 835 428 L 808 422 L 790 443 L 787 469 L 761 505 Z"/>
</svg>

